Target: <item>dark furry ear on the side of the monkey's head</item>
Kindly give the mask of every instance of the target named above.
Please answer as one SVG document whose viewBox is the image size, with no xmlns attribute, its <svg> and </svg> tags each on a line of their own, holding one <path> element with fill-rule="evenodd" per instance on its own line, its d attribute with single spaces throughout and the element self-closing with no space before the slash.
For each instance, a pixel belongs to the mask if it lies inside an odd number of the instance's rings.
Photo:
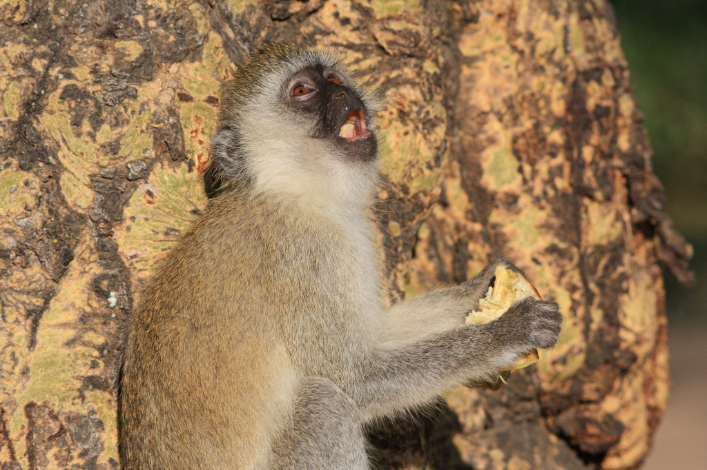
<svg viewBox="0 0 707 470">
<path fill-rule="evenodd" d="M 204 171 L 207 198 L 216 198 L 228 188 L 249 181 L 243 146 L 236 128 L 221 126 L 218 129 L 211 143 L 211 155 L 211 163 Z"/>
</svg>

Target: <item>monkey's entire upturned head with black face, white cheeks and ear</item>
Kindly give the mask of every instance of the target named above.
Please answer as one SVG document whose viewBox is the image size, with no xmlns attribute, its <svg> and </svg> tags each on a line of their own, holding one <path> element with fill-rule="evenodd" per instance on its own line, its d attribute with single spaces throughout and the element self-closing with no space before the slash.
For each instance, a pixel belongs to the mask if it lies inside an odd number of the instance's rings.
<svg viewBox="0 0 707 470">
<path fill-rule="evenodd" d="M 361 200 L 378 176 L 376 112 L 335 54 L 265 47 L 223 90 L 210 170 L 250 191 Z"/>
</svg>

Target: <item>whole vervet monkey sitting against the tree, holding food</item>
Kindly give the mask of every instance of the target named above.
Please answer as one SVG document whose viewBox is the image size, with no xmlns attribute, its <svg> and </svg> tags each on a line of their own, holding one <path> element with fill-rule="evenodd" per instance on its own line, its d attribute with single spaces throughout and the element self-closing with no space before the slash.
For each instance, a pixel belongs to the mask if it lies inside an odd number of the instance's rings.
<svg viewBox="0 0 707 470">
<path fill-rule="evenodd" d="M 382 307 L 368 212 L 379 103 L 337 56 L 266 47 L 221 106 L 220 195 L 129 321 L 125 470 L 369 469 L 366 423 L 556 343 L 550 301 L 464 324 L 503 260 Z"/>
</svg>

